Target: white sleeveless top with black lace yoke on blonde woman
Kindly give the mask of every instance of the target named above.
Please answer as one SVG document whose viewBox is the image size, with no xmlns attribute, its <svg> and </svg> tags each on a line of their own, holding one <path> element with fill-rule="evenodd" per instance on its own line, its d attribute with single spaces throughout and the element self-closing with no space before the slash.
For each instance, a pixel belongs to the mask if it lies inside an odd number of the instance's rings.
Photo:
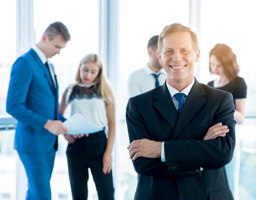
<svg viewBox="0 0 256 200">
<path fill-rule="evenodd" d="M 106 127 L 108 125 L 106 104 L 102 97 L 98 97 L 94 83 L 86 86 L 72 84 L 66 94 L 66 103 L 71 105 L 71 116 L 82 114 L 90 123 Z"/>
</svg>

